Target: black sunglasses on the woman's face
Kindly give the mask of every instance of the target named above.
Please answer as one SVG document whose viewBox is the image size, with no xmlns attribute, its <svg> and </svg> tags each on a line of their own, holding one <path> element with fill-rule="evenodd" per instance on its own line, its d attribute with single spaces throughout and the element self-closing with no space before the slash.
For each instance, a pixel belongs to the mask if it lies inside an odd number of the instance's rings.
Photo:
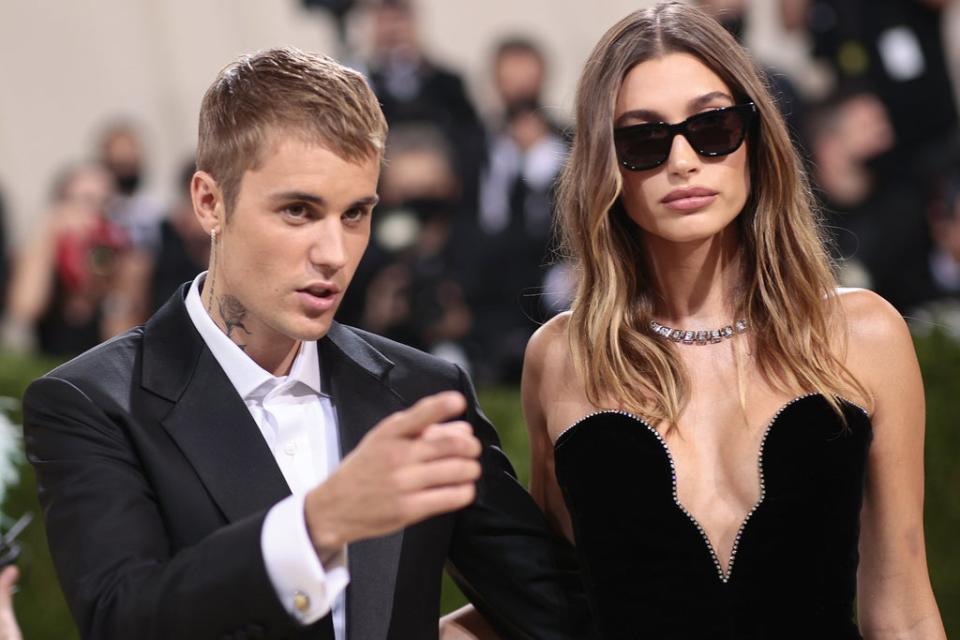
<svg viewBox="0 0 960 640">
<path fill-rule="evenodd" d="M 620 164 L 630 171 L 645 171 L 666 162 L 678 133 L 702 156 L 725 156 L 740 148 L 756 115 L 757 107 L 747 102 L 698 113 L 677 124 L 619 127 L 613 130 L 613 145 Z"/>
</svg>

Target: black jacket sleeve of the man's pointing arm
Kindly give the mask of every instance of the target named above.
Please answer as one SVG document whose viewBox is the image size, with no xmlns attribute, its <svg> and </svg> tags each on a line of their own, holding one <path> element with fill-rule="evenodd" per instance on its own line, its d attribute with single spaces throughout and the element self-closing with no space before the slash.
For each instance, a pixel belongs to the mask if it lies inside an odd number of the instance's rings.
<svg viewBox="0 0 960 640">
<path fill-rule="evenodd" d="M 261 556 L 266 511 L 172 553 L 150 478 L 119 426 L 122 418 L 108 411 L 52 376 L 24 396 L 26 447 L 50 550 L 81 635 L 296 635 Z"/>
</svg>

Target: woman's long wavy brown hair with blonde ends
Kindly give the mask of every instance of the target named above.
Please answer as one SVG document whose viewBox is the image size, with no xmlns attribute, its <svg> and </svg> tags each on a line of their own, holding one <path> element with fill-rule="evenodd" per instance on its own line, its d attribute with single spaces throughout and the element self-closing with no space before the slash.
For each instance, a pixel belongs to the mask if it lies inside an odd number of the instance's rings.
<svg viewBox="0 0 960 640">
<path fill-rule="evenodd" d="M 561 251 L 577 289 L 569 322 L 574 364 L 595 405 L 615 399 L 652 424 L 676 425 L 686 376 L 671 345 L 648 328 L 654 290 L 642 232 L 627 216 L 613 145 L 617 94 L 637 64 L 669 53 L 696 56 L 734 93 L 757 106 L 748 138 L 751 193 L 738 227 L 741 276 L 736 318 L 750 326 L 760 373 L 787 392 L 870 402 L 832 352 L 836 281 L 819 235 L 802 164 L 761 73 L 713 18 L 679 3 L 630 14 L 594 48 L 576 97 L 576 130 L 558 185 Z M 741 403 L 745 402 L 741 384 Z"/>
</svg>

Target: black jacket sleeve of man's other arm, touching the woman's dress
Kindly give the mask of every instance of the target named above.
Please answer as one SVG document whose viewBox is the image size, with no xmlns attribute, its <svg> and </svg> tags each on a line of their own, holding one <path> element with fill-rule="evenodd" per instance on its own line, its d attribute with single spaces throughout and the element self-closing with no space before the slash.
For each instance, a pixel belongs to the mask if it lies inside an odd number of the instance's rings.
<svg viewBox="0 0 960 640">
<path fill-rule="evenodd" d="M 466 419 L 483 444 L 483 475 L 473 505 L 457 514 L 450 570 L 474 606 L 504 638 L 592 636 L 572 546 L 518 482 L 496 430 L 460 371 Z"/>
</svg>

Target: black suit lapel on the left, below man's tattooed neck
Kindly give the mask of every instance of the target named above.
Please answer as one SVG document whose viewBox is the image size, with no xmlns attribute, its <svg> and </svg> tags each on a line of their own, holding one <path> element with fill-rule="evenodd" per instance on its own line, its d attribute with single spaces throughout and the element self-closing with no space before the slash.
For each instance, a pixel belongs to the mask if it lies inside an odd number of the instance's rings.
<svg viewBox="0 0 960 640">
<path fill-rule="evenodd" d="M 181 289 L 144 329 L 143 385 L 174 404 L 164 428 L 227 520 L 270 508 L 290 489 L 243 400 L 203 344 Z"/>
</svg>

